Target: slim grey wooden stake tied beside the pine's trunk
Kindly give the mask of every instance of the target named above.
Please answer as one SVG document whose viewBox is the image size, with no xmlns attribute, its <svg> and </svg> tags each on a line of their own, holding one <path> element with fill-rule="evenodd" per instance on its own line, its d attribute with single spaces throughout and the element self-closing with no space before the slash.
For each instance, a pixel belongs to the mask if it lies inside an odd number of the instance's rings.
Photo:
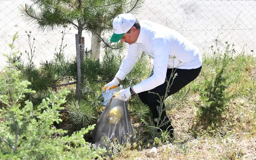
<svg viewBox="0 0 256 160">
<path fill-rule="evenodd" d="M 82 84 L 82 77 L 81 77 L 81 51 L 80 51 L 80 38 L 79 35 L 76 34 L 76 67 L 77 67 L 77 83 L 76 83 L 76 99 L 82 99 L 82 92 L 81 92 L 81 84 Z"/>
</svg>

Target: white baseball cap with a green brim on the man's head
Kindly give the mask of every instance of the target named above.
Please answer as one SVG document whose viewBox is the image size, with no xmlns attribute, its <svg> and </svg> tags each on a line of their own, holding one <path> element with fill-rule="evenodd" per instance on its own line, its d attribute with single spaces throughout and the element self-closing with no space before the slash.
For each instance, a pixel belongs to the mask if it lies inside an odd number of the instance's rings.
<svg viewBox="0 0 256 160">
<path fill-rule="evenodd" d="M 119 14 L 113 20 L 114 34 L 110 38 L 110 41 L 118 42 L 122 38 L 122 36 L 131 29 L 135 21 L 136 21 L 136 18 L 134 17 L 133 14 L 130 14 L 130 13 Z"/>
</svg>

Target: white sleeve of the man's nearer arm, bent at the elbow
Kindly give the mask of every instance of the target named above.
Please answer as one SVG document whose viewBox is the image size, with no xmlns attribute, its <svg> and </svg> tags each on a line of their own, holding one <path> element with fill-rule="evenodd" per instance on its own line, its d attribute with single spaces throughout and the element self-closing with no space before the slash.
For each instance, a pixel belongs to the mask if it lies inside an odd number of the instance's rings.
<svg viewBox="0 0 256 160">
<path fill-rule="evenodd" d="M 165 82 L 169 61 L 171 43 L 164 38 L 157 38 L 152 42 L 154 53 L 154 74 L 133 86 L 135 93 L 151 90 Z"/>
</svg>

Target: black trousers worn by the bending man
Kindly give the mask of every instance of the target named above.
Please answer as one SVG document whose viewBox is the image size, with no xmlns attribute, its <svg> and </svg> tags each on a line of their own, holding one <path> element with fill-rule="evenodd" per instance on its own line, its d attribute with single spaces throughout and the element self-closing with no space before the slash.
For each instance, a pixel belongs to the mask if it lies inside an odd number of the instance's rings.
<svg viewBox="0 0 256 160">
<path fill-rule="evenodd" d="M 171 85 L 169 92 L 167 93 L 167 97 L 175 94 L 176 92 L 178 92 L 180 89 L 182 89 L 184 86 L 186 86 L 188 83 L 192 82 L 194 79 L 196 79 L 196 77 L 199 75 L 200 71 L 201 71 L 202 67 L 199 67 L 197 69 L 191 69 L 191 70 L 185 70 L 185 69 L 177 69 L 177 68 L 173 68 L 173 69 L 167 69 L 167 74 L 166 74 L 166 81 L 160 85 L 155 87 L 154 89 L 150 90 L 151 92 L 154 93 L 158 93 L 160 96 L 164 96 L 166 93 L 166 88 L 167 88 L 167 81 L 171 78 L 169 85 Z M 173 73 L 172 73 L 173 72 Z M 173 82 L 172 82 L 172 78 L 173 76 L 177 73 L 177 76 L 174 78 Z M 152 74 L 151 74 L 152 75 Z M 171 84 L 172 82 L 172 84 Z M 148 93 L 148 91 L 144 91 L 138 94 L 139 98 L 141 99 L 141 101 L 148 105 L 152 114 L 153 114 L 153 119 L 155 118 L 159 118 L 159 113 L 157 110 L 157 106 L 160 106 L 160 98 L 159 95 L 157 94 L 152 94 L 152 93 Z M 166 97 L 166 98 L 167 98 Z M 163 103 L 163 111 L 161 114 L 161 120 L 159 122 L 159 124 L 161 124 L 161 122 L 165 123 L 167 122 L 166 125 L 164 126 L 160 126 L 159 128 L 161 130 L 166 130 L 168 126 L 171 126 L 171 122 L 169 120 L 169 118 L 166 115 L 166 111 L 165 111 L 165 105 Z M 164 119 L 164 117 L 166 117 Z M 154 121 L 155 126 L 157 125 L 157 122 Z M 171 133 L 173 132 L 173 127 L 169 127 L 168 130 L 171 131 Z M 160 130 L 158 130 L 160 131 Z"/>
</svg>

